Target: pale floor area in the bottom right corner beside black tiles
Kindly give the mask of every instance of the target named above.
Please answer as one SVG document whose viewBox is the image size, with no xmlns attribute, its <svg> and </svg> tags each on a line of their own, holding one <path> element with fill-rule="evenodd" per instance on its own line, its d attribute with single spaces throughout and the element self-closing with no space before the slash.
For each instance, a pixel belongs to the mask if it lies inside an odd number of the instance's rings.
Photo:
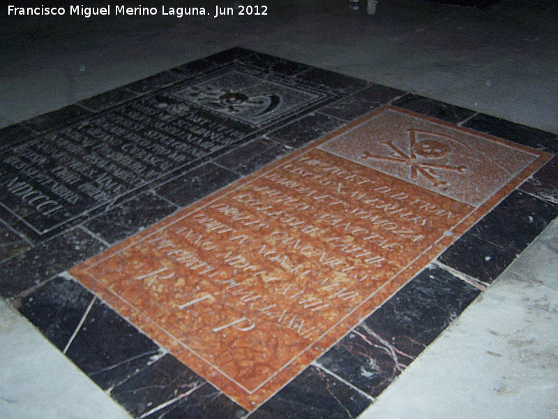
<svg viewBox="0 0 558 419">
<path fill-rule="evenodd" d="M 555 418 L 553 222 L 365 411 L 372 418 Z"/>
</svg>

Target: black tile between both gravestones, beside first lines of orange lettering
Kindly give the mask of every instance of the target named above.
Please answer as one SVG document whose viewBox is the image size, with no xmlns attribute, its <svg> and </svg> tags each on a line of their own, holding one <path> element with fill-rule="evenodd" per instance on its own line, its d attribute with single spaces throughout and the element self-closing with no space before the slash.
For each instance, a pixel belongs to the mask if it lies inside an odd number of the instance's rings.
<svg viewBox="0 0 558 419">
<path fill-rule="evenodd" d="M 225 154 L 215 162 L 239 175 L 248 175 L 289 152 L 292 149 L 285 145 L 259 138 Z"/>
</svg>

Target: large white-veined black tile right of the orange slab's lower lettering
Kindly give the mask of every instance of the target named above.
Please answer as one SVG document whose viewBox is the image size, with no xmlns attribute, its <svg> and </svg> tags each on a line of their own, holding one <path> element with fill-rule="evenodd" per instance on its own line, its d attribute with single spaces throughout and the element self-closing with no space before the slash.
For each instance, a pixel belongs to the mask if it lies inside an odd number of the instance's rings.
<svg viewBox="0 0 558 419">
<path fill-rule="evenodd" d="M 317 362 L 377 397 L 479 293 L 428 267 Z"/>
</svg>

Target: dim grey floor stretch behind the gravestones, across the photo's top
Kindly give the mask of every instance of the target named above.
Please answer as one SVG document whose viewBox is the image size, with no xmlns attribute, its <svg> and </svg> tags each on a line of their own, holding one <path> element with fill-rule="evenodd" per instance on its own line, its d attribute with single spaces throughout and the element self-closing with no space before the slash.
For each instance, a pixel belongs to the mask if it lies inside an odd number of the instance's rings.
<svg viewBox="0 0 558 419">
<path fill-rule="evenodd" d="M 556 1 L 384 0 L 374 17 L 347 3 L 266 1 L 269 15 L 251 18 L 9 20 L 0 126 L 241 46 L 558 132 Z"/>
</svg>

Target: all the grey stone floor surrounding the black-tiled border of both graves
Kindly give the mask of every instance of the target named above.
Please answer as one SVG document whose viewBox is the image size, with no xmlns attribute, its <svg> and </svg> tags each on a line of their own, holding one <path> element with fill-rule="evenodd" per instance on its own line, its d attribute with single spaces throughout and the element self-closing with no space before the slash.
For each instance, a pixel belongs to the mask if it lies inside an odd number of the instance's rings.
<svg viewBox="0 0 558 419">
<path fill-rule="evenodd" d="M 0 127 L 241 46 L 558 133 L 554 0 L 380 0 L 374 17 L 339 0 L 266 4 L 259 18 L 62 23 L 2 10 Z M 557 242 L 554 223 L 363 418 L 558 417 Z M 125 417 L 15 311 L 0 317 L 1 417 Z"/>
</svg>

